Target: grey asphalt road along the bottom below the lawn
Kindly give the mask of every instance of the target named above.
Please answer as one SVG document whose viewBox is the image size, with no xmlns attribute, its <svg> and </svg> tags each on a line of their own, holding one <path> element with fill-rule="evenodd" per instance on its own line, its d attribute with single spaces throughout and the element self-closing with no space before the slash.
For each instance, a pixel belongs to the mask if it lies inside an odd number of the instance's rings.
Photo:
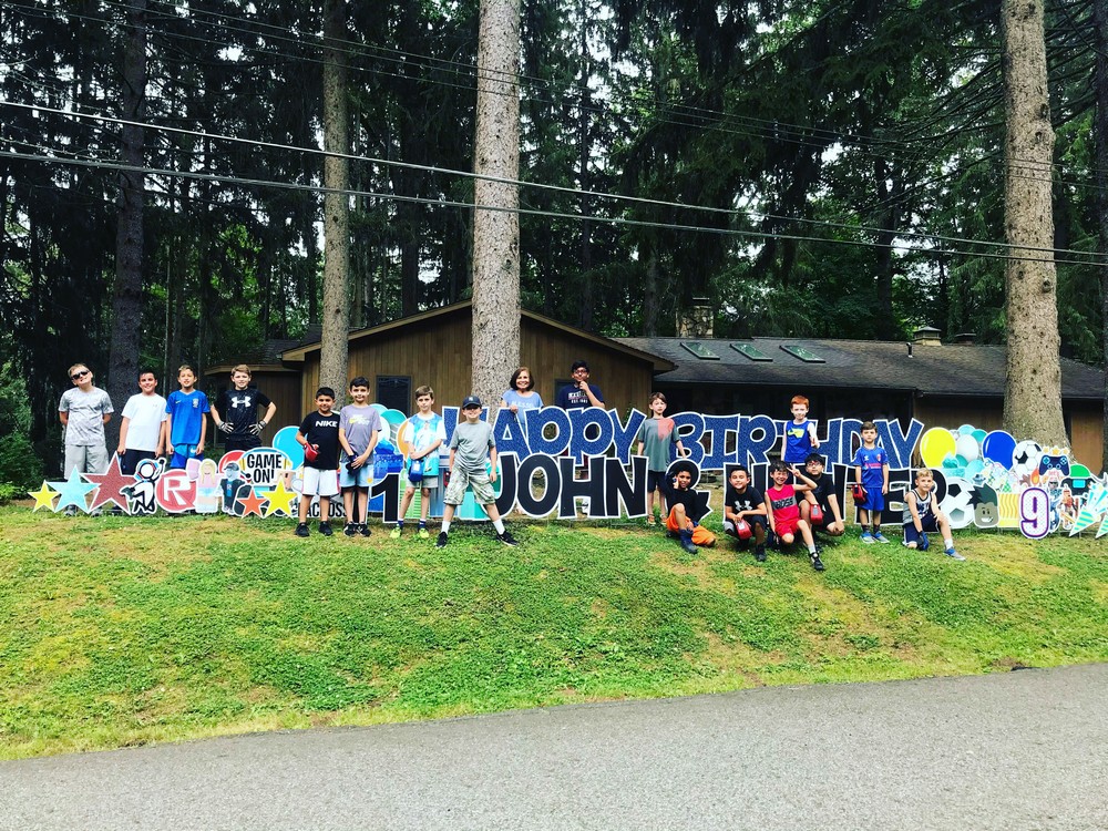
<svg viewBox="0 0 1108 831">
<path fill-rule="evenodd" d="M 0 828 L 1108 829 L 1108 665 L 0 763 Z"/>
</svg>

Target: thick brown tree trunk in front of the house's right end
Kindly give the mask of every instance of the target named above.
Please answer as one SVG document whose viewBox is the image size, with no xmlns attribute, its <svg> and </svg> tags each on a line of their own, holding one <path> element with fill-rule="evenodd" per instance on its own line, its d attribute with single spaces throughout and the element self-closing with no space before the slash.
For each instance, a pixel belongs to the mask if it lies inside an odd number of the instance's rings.
<svg viewBox="0 0 1108 831">
<path fill-rule="evenodd" d="M 1066 444 L 1058 357 L 1058 278 L 1050 212 L 1054 127 L 1042 3 L 1004 0 L 1004 224 L 1007 383 L 1004 428 L 1017 439 Z"/>
</svg>

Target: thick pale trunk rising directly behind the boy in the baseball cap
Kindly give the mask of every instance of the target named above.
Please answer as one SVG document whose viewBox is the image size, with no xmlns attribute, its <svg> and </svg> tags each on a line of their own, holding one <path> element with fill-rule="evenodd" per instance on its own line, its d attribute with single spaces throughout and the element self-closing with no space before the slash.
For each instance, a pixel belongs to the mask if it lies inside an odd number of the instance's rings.
<svg viewBox="0 0 1108 831">
<path fill-rule="evenodd" d="M 473 167 L 472 389 L 491 403 L 520 363 L 520 0 L 481 0 Z M 494 208 L 494 209 L 489 209 Z"/>
</svg>

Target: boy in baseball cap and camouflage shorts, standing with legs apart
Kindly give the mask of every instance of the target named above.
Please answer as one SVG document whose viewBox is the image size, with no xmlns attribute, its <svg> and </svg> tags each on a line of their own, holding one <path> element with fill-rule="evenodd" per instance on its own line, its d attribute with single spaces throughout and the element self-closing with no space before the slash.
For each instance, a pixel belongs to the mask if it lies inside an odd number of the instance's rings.
<svg viewBox="0 0 1108 831">
<path fill-rule="evenodd" d="M 454 519 L 454 509 L 465 499 L 466 488 L 473 489 L 473 497 L 492 520 L 496 538 L 504 545 L 517 545 L 496 510 L 496 493 L 492 489 L 496 483 L 496 439 L 489 422 L 481 421 L 481 399 L 469 396 L 462 401 L 462 416 L 465 421 L 459 421 L 450 437 L 450 484 L 442 500 L 445 503 L 442 531 L 434 547 L 447 547 L 450 521 Z M 486 462 L 492 465 L 491 472 L 485 472 Z"/>
</svg>

